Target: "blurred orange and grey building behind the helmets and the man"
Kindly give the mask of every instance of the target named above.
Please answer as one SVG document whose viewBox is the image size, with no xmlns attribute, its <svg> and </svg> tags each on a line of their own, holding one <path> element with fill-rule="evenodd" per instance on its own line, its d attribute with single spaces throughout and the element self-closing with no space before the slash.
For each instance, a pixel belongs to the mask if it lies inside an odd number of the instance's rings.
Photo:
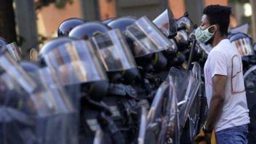
<svg viewBox="0 0 256 144">
<path fill-rule="evenodd" d="M 59 24 L 68 18 L 104 20 L 124 15 L 138 18 L 146 15 L 152 20 L 166 7 L 171 8 L 174 18 L 179 18 L 188 11 L 191 20 L 199 25 L 204 7 L 210 4 L 231 6 L 233 14 L 230 28 L 249 23 L 249 34 L 252 35 L 252 9 L 249 0 L 73 0 L 72 4 L 67 3 L 63 9 L 57 9 L 50 4 L 37 10 L 37 28 L 38 34 L 51 38 L 56 36 Z"/>
</svg>

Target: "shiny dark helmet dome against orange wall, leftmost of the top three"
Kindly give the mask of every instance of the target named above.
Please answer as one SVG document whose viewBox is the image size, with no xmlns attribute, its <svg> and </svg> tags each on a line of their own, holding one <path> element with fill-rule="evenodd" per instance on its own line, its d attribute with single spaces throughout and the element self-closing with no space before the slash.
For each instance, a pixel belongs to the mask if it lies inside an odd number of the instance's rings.
<svg viewBox="0 0 256 144">
<path fill-rule="evenodd" d="M 58 28 L 58 36 L 68 36 L 69 32 L 78 25 L 84 23 L 81 18 L 70 18 L 60 23 Z"/>
</svg>

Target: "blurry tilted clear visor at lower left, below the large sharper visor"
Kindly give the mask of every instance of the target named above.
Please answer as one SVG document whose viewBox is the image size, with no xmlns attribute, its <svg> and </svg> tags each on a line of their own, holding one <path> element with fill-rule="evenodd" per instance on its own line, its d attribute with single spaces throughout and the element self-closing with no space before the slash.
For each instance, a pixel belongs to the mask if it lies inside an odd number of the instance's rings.
<svg viewBox="0 0 256 144">
<path fill-rule="evenodd" d="M 48 113 L 54 112 L 59 114 L 74 111 L 73 103 L 68 98 L 67 92 L 61 86 L 57 75 L 51 67 L 39 69 L 35 76 L 38 78 L 41 86 L 44 87 L 41 91 L 33 94 L 35 98 L 39 98 L 35 99 L 35 103 L 39 104 L 37 106 L 43 106 L 41 102 L 45 101 L 44 105 L 52 108 L 52 111 L 46 111 Z M 75 95 L 72 96 L 75 97 Z"/>
</svg>

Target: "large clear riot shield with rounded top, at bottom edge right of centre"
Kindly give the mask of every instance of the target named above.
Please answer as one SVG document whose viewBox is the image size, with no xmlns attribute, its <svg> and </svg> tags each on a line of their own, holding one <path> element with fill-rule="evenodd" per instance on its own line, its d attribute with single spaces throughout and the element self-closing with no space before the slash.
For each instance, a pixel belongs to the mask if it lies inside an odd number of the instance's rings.
<svg viewBox="0 0 256 144">
<path fill-rule="evenodd" d="M 145 143 L 179 143 L 178 106 L 171 77 L 158 88 L 151 104 L 146 138 Z"/>
</svg>

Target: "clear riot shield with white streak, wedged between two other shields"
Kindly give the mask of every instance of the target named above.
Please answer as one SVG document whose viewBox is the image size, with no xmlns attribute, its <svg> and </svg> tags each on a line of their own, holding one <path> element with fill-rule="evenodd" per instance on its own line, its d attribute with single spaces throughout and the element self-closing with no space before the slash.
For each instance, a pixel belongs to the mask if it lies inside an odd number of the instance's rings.
<svg viewBox="0 0 256 144">
<path fill-rule="evenodd" d="M 199 89 L 199 80 L 193 76 L 192 71 L 182 71 L 172 67 L 169 75 L 173 76 L 175 91 L 177 92 L 180 129 L 185 126 L 189 110 Z"/>
</svg>

